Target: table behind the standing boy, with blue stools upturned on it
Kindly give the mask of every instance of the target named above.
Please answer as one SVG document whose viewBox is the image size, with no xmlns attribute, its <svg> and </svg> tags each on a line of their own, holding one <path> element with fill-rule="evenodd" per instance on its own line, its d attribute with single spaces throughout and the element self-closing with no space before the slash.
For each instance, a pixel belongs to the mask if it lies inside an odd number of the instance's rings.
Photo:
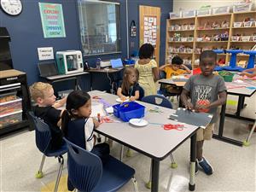
<svg viewBox="0 0 256 192">
<path fill-rule="evenodd" d="M 172 85 L 176 85 L 176 86 L 179 86 L 179 87 L 183 87 L 183 85 L 186 82 L 186 79 L 174 79 L 174 80 L 173 79 L 160 79 L 159 83 L 160 84 L 172 84 Z M 226 113 L 226 103 L 224 105 L 222 105 L 221 113 L 220 113 L 220 119 L 219 119 L 219 125 L 218 125 L 218 135 L 213 134 L 213 138 L 216 138 L 220 141 L 224 141 L 226 143 L 235 144 L 235 145 L 238 145 L 238 146 L 242 146 L 241 141 L 237 141 L 235 139 L 231 139 L 229 137 L 224 137 L 223 136 L 224 118 L 225 118 L 225 116 L 228 116 L 228 117 L 232 117 L 232 118 L 236 118 L 236 119 L 254 121 L 254 119 L 242 117 L 241 116 L 241 109 L 244 108 L 245 97 L 246 96 L 247 97 L 253 96 L 253 94 L 256 92 L 256 89 L 248 89 L 247 87 L 248 86 L 256 87 L 256 82 L 255 82 L 255 80 L 249 80 L 249 79 L 244 80 L 244 82 L 247 83 L 247 86 L 246 86 L 246 84 L 239 84 L 239 83 L 236 83 L 236 82 L 225 83 L 227 88 L 228 88 L 227 94 L 238 96 L 238 103 L 237 103 L 236 113 L 235 114 Z"/>
</svg>

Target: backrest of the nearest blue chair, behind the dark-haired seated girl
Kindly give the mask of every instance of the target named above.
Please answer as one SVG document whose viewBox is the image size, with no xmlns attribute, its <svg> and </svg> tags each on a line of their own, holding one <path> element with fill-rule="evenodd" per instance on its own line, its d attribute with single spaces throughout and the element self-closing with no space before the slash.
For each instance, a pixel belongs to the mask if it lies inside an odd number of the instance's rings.
<svg viewBox="0 0 256 192">
<path fill-rule="evenodd" d="M 102 160 L 84 148 L 67 143 L 68 179 L 79 191 L 92 191 L 102 177 Z"/>
</svg>

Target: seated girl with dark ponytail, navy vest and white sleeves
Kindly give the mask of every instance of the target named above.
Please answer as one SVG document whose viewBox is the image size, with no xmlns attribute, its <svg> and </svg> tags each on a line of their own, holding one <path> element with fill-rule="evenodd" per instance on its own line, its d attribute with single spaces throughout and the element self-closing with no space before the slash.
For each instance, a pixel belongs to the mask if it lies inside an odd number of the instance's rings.
<svg viewBox="0 0 256 192">
<path fill-rule="evenodd" d="M 99 156 L 104 164 L 109 157 L 107 143 L 96 144 L 94 128 L 100 123 L 90 118 L 90 95 L 84 90 L 74 90 L 67 96 L 66 110 L 61 117 L 61 130 L 68 141 Z M 73 190 L 73 184 L 67 179 L 68 190 Z"/>
</svg>

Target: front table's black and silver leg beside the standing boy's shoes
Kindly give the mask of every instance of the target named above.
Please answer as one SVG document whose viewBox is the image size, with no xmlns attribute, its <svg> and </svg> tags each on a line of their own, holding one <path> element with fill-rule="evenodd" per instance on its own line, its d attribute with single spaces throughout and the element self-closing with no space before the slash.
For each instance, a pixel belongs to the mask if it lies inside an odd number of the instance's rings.
<svg viewBox="0 0 256 192">
<path fill-rule="evenodd" d="M 195 158 L 196 158 L 196 132 L 190 141 L 190 177 L 189 190 L 195 190 Z"/>
</svg>

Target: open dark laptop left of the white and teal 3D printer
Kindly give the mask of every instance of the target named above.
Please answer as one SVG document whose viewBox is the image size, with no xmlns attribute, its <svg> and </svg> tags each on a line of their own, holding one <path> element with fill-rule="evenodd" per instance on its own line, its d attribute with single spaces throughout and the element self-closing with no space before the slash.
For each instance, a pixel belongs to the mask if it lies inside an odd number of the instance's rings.
<svg viewBox="0 0 256 192">
<path fill-rule="evenodd" d="M 39 62 L 38 70 L 39 70 L 40 76 L 43 78 L 55 76 L 59 74 L 55 61 Z"/>
</svg>

